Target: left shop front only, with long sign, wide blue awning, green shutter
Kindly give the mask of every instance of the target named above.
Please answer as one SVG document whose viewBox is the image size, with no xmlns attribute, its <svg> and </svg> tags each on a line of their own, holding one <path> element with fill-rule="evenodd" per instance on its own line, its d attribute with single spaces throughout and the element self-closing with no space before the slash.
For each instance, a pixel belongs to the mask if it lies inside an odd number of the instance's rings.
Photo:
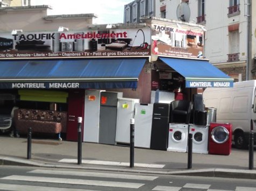
<svg viewBox="0 0 256 191">
<path fill-rule="evenodd" d="M 135 90 L 150 57 L 146 24 L 2 34 L 0 40 L 1 92 L 15 94 L 19 108 L 66 112 L 67 128 L 61 133 L 71 141 L 77 139 L 77 117 L 84 116 L 85 90 L 139 96 Z"/>
</svg>

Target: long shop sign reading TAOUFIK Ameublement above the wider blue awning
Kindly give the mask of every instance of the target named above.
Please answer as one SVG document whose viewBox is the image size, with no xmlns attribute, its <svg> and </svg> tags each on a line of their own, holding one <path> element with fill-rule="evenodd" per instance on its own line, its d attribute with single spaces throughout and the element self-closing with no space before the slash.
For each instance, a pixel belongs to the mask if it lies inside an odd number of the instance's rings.
<svg viewBox="0 0 256 191">
<path fill-rule="evenodd" d="M 149 57 L 149 27 L 0 34 L 0 59 Z"/>
</svg>

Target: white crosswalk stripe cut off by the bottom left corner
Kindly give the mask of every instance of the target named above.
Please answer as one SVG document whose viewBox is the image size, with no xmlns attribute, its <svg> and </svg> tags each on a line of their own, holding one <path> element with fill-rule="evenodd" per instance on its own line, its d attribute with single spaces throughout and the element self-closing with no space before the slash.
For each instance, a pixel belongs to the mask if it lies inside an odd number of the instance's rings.
<svg viewBox="0 0 256 191">
<path fill-rule="evenodd" d="M 12 191 L 97 191 L 97 190 L 85 190 L 85 189 L 73 189 L 73 188 L 57 188 L 57 187 L 43 187 L 43 186 L 27 186 L 27 185 L 8 185 L 6 183 L 0 183 L 1 190 Z M 99 191 L 99 190 L 98 190 Z"/>
</svg>

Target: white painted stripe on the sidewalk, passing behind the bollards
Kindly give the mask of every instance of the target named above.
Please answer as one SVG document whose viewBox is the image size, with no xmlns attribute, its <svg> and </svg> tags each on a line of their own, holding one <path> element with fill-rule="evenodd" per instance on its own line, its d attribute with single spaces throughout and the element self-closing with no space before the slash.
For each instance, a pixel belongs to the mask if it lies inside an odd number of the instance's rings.
<svg viewBox="0 0 256 191">
<path fill-rule="evenodd" d="M 61 159 L 59 163 L 77 163 L 77 159 Z M 110 166 L 130 166 L 130 163 L 115 162 L 115 161 L 104 161 L 104 160 L 82 160 L 82 164 L 93 164 L 93 165 L 110 165 Z M 165 165 L 160 164 L 144 164 L 134 163 L 136 167 L 148 167 L 148 168 L 163 168 Z"/>
</svg>

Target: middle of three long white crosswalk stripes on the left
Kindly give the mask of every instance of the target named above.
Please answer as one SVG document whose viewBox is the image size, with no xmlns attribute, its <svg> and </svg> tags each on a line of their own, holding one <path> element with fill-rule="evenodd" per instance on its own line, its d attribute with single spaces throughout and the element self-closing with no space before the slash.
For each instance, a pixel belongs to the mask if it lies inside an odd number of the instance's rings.
<svg viewBox="0 0 256 191">
<path fill-rule="evenodd" d="M 51 182 L 51 183 L 68 183 L 71 185 L 92 185 L 92 186 L 107 186 L 107 187 L 122 187 L 122 188 L 140 188 L 144 183 L 133 182 L 114 182 L 114 181 L 99 181 L 99 180 L 81 180 L 81 179 L 67 179 L 67 178 L 50 178 L 50 177 L 34 177 L 11 175 L 1 178 L 3 180 L 21 180 L 33 182 Z"/>
</svg>

